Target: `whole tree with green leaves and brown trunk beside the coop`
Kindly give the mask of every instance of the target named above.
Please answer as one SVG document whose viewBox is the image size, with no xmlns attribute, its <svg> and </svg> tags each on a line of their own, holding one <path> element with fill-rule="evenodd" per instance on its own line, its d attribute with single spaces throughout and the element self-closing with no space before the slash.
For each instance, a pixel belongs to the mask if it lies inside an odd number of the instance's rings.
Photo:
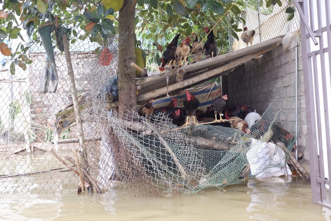
<svg viewBox="0 0 331 221">
<path fill-rule="evenodd" d="M 123 7 L 115 12 L 118 2 L 123 2 Z M 0 0 L 0 50 L 5 56 L 11 57 L 11 73 L 15 74 L 16 65 L 26 69 L 26 64 L 32 61 L 26 56 L 28 44 L 20 44 L 17 48 L 10 49 L 5 39 L 21 38 L 22 28 L 35 41 L 39 40 L 37 27 L 51 22 L 59 26 L 74 26 L 71 43 L 78 39 L 89 39 L 103 45 L 109 35 L 118 34 L 119 61 L 119 97 L 133 100 L 133 103 L 120 107 L 119 112 L 135 108 L 134 86 L 124 87 L 128 78 L 134 78 L 134 70 L 127 71 L 124 66 L 130 67 L 129 62 L 135 60 L 134 45 L 145 50 L 150 55 L 150 61 L 159 63 L 161 52 L 165 50 L 167 42 L 179 32 L 181 35 L 190 36 L 197 33 L 202 39 L 205 37 L 203 29 L 214 27 L 214 35 L 219 47 L 228 46 L 229 35 L 238 39 L 236 32 L 238 23 L 242 18 L 242 9 L 247 1 L 244 0 Z M 263 0 L 260 0 L 263 3 Z M 264 0 L 267 7 L 278 4 L 280 0 Z M 117 9 L 116 9 L 117 10 Z M 133 31 L 132 31 L 133 30 Z M 137 41 L 135 41 L 135 35 Z M 98 52 L 98 51 L 96 51 Z M 132 68 L 131 68 L 132 69 Z M 129 76 L 129 77 L 128 77 Z M 122 85 L 122 86 L 121 86 Z M 123 90 L 121 93 L 121 90 Z M 132 94 L 129 92 L 131 90 Z M 132 105 L 132 106 L 128 106 Z M 129 108 L 130 107 L 130 108 Z"/>
</svg>

